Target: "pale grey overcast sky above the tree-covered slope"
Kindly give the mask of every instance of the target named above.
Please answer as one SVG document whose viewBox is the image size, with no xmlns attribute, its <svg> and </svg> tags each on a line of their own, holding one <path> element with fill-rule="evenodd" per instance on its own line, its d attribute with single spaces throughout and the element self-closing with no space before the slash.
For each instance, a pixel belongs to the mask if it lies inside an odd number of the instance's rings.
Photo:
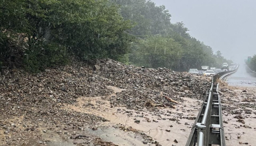
<svg viewBox="0 0 256 146">
<path fill-rule="evenodd" d="M 184 22 L 190 35 L 241 63 L 256 54 L 256 0 L 152 0 L 164 5 L 171 22 Z"/>
</svg>

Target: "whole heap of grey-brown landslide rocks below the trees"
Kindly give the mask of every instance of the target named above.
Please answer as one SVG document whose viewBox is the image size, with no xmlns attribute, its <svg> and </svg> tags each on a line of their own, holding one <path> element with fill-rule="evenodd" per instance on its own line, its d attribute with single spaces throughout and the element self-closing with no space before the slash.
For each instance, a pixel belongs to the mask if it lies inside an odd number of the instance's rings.
<svg viewBox="0 0 256 146">
<path fill-rule="evenodd" d="M 173 108 L 176 103 L 168 98 L 177 102 L 183 101 L 182 97 L 202 99 L 210 85 L 207 77 L 166 68 L 147 69 L 111 59 L 95 62 L 75 62 L 36 74 L 4 69 L 0 75 L 0 130 L 5 129 L 3 134 L 16 132 L 18 136 L 18 126 L 13 125 L 26 126 L 26 123 L 29 125 L 24 127 L 27 130 L 24 132 L 34 131 L 33 127 L 40 128 L 40 125 L 44 129 L 47 125 L 81 129 L 108 120 L 65 109 L 66 105 L 75 105 L 78 97 L 106 97 L 112 106 L 152 110 L 158 108 L 154 105 Z M 110 86 L 124 90 L 115 92 Z M 17 117 L 16 122 L 8 120 Z"/>
</svg>

